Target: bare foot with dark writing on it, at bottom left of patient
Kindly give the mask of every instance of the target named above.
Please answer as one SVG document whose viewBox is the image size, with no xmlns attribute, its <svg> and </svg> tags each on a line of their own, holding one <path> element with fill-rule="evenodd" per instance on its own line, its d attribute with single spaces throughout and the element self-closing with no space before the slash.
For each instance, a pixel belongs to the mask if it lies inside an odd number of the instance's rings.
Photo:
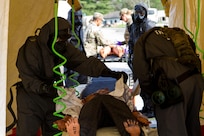
<svg viewBox="0 0 204 136">
<path fill-rule="evenodd" d="M 78 122 L 78 118 L 70 118 L 65 123 L 67 133 L 69 136 L 79 136 L 80 134 L 80 126 Z"/>
</svg>

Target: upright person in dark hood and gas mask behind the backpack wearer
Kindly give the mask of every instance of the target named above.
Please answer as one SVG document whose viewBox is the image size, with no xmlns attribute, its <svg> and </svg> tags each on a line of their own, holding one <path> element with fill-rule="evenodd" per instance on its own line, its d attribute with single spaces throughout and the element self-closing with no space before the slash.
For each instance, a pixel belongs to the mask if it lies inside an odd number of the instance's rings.
<svg viewBox="0 0 204 136">
<path fill-rule="evenodd" d="M 146 31 L 148 31 L 149 29 L 155 26 L 155 22 L 147 18 L 147 13 L 148 13 L 148 7 L 145 3 L 139 3 L 135 5 L 134 13 L 132 14 L 133 24 L 131 25 L 131 28 L 130 28 L 130 39 L 128 42 L 128 46 L 129 46 L 128 65 L 132 71 L 133 71 L 133 66 L 132 66 L 133 50 L 137 50 L 137 49 L 134 49 L 134 46 L 137 40 L 142 34 L 144 34 Z M 147 117 L 153 117 L 154 110 L 153 110 L 153 104 L 152 104 L 151 98 L 144 91 L 141 91 L 140 96 L 144 101 L 144 107 L 141 112 Z"/>
</svg>

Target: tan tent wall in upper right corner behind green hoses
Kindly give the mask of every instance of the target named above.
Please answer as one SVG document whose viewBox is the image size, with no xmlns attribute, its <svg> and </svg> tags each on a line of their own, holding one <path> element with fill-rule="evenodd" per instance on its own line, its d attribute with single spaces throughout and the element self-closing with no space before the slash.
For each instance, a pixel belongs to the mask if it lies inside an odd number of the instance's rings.
<svg viewBox="0 0 204 136">
<path fill-rule="evenodd" d="M 204 51 L 204 40 L 201 37 L 204 36 L 204 8 L 202 0 L 168 0 L 170 3 L 169 10 L 169 26 L 170 27 L 180 27 L 186 30 L 190 30 L 194 36 L 196 36 L 196 30 L 199 28 L 198 35 L 196 37 L 198 48 Z M 200 2 L 200 3 L 198 3 Z M 185 7 L 184 7 L 185 6 Z M 199 8 L 200 7 L 200 11 Z M 184 12 L 185 11 L 185 12 Z M 198 14 L 200 12 L 200 16 Z M 184 17 L 185 16 L 185 17 Z M 200 17 L 200 26 L 198 16 Z M 186 28 L 184 27 L 186 26 Z M 186 31 L 187 32 L 187 31 Z M 202 60 L 202 72 L 204 72 L 204 54 L 199 50 L 197 52 L 200 54 Z"/>
</svg>

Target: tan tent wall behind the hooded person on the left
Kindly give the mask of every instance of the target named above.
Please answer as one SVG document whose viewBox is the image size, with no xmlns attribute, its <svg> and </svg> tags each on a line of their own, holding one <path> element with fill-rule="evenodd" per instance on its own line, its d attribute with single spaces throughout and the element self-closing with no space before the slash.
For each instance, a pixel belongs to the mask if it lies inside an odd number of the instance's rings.
<svg viewBox="0 0 204 136">
<path fill-rule="evenodd" d="M 1 5 L 1 7 L 2 6 L 3 5 Z M 20 80 L 18 78 L 18 71 L 15 66 L 18 49 L 23 45 L 27 36 L 34 35 L 36 28 L 41 28 L 46 22 L 48 22 L 53 17 L 54 17 L 54 0 L 11 0 L 10 1 L 6 90 L 9 90 L 9 88 L 14 83 Z M 4 65 L 5 64 L 6 63 L 4 63 Z M 1 66 L 3 66 L 3 64 Z M 2 71 L 5 72 L 6 69 Z M 6 72 L 4 74 L 6 74 Z M 6 77 L 6 76 L 3 76 L 3 77 Z M 12 89 L 15 90 L 15 88 L 12 88 Z M 6 95 L 1 95 L 1 96 L 6 96 Z M 14 99 L 15 97 L 16 95 L 14 94 Z M 9 99 L 10 99 L 10 94 L 7 93 L 7 103 Z M 16 101 L 14 101 L 12 108 L 14 111 L 16 111 Z M 12 121 L 13 121 L 13 118 L 10 112 L 8 112 L 7 110 L 6 112 L 7 126 Z M 5 131 L 4 131 L 4 134 L 5 134 Z"/>
</svg>

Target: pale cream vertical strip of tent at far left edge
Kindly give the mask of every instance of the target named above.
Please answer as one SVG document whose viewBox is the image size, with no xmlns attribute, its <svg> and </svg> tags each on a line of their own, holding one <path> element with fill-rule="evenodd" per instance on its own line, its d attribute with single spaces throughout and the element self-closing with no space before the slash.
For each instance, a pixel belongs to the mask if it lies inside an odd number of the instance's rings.
<svg viewBox="0 0 204 136">
<path fill-rule="evenodd" d="M 7 68 L 7 49 L 8 49 L 8 13 L 9 1 L 0 0 L 0 136 L 4 136 L 6 131 L 6 68 Z"/>
</svg>

